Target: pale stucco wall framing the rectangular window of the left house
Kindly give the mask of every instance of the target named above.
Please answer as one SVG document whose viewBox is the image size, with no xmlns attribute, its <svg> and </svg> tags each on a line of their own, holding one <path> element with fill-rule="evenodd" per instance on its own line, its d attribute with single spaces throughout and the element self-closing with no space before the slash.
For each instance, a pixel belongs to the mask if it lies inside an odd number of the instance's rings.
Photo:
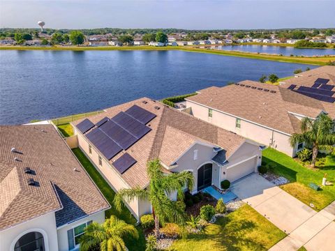
<svg viewBox="0 0 335 251">
<path fill-rule="evenodd" d="M 89 215 L 85 218 L 72 222 L 70 224 L 61 226 L 57 229 L 57 236 L 58 236 L 58 246 L 59 251 L 68 251 L 68 230 L 73 229 L 79 225 L 82 225 L 85 222 L 89 222 L 93 220 L 94 222 L 103 223 L 105 221 L 105 211 L 101 211 L 95 213 L 93 215 Z"/>
</svg>

